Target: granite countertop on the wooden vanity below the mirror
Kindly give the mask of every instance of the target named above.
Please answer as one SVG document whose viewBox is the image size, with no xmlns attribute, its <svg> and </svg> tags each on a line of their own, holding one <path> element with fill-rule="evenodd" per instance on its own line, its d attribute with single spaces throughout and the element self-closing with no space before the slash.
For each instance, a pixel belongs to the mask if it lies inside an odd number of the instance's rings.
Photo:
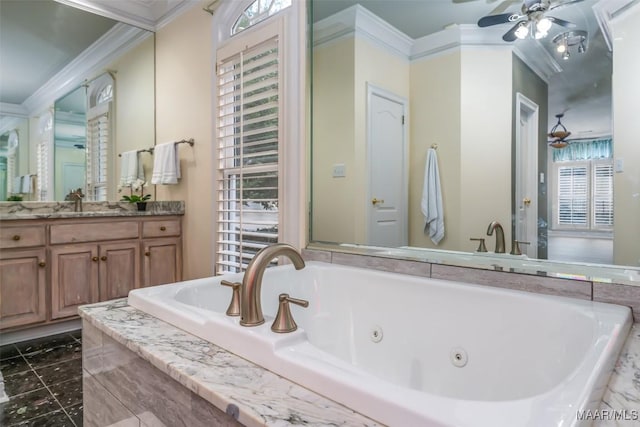
<svg viewBox="0 0 640 427">
<path fill-rule="evenodd" d="M 74 202 L 3 202 L 0 220 L 49 218 L 99 218 L 154 215 L 184 215 L 183 201 L 147 202 L 147 209 L 139 211 L 134 203 L 83 202 L 82 212 L 74 212 Z"/>
</svg>

